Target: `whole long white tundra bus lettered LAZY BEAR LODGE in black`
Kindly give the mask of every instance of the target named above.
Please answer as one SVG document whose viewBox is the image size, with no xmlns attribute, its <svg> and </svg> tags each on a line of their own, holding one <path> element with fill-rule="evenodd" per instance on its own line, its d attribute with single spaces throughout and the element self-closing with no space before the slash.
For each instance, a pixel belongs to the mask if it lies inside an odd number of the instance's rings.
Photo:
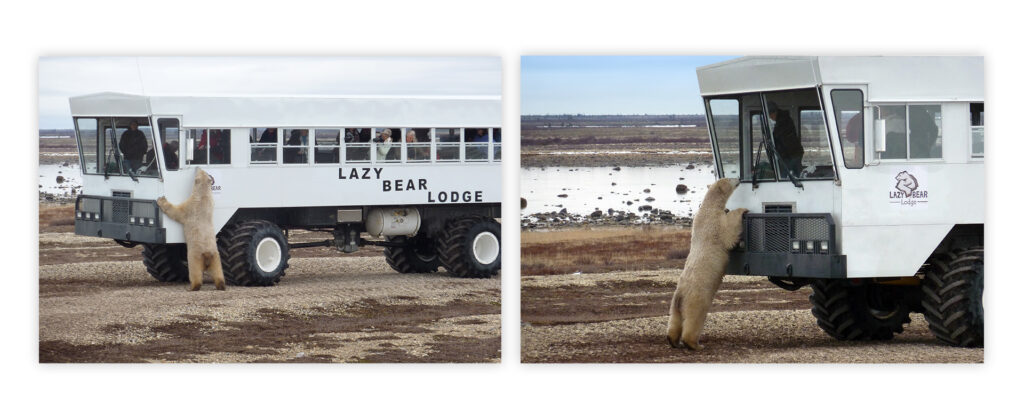
<svg viewBox="0 0 1024 420">
<path fill-rule="evenodd" d="M 196 168 L 213 178 L 225 280 L 271 286 L 289 250 L 385 248 L 399 272 L 501 267 L 501 99 L 71 98 L 82 164 L 77 235 L 142 245 L 147 271 L 186 282 L 184 233 L 157 199 L 180 203 Z M 289 243 L 289 229 L 334 239 Z M 371 241 L 360 234 L 377 238 Z"/>
</svg>

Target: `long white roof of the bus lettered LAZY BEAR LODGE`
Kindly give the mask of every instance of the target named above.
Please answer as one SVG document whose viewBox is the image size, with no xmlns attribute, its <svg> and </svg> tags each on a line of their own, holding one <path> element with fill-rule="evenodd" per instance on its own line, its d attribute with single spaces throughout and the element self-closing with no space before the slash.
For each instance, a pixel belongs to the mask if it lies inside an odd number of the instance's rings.
<svg viewBox="0 0 1024 420">
<path fill-rule="evenodd" d="M 177 116 L 185 127 L 501 127 L 500 96 L 143 96 L 70 99 L 75 117 Z"/>
</svg>

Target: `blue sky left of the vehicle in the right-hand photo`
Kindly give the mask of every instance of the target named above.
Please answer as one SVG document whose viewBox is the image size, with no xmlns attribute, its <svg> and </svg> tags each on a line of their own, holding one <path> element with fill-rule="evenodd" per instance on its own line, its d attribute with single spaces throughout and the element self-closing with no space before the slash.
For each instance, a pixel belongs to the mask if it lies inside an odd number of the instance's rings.
<svg viewBox="0 0 1024 420">
<path fill-rule="evenodd" d="M 696 68 L 713 55 L 522 57 L 522 114 L 703 114 Z"/>
</svg>

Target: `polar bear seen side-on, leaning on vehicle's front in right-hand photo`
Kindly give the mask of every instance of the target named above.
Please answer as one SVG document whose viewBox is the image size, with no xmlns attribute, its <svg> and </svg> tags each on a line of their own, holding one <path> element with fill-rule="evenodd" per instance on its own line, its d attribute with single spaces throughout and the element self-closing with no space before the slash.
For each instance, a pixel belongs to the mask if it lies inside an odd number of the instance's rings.
<svg viewBox="0 0 1024 420">
<path fill-rule="evenodd" d="M 690 254 L 669 308 L 669 344 L 682 344 L 699 350 L 697 343 L 705 318 L 715 293 L 722 285 L 729 250 L 735 248 L 742 234 L 746 209 L 728 211 L 725 202 L 739 184 L 734 178 L 722 178 L 709 185 L 700 209 L 693 217 Z"/>
</svg>

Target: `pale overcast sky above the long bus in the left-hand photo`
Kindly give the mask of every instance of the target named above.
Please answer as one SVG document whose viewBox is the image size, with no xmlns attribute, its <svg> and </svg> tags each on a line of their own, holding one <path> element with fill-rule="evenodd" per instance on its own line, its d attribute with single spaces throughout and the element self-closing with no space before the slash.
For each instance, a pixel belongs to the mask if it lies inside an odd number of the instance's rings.
<svg viewBox="0 0 1024 420">
<path fill-rule="evenodd" d="M 148 95 L 501 95 L 499 57 L 43 57 L 39 128 L 72 128 L 68 98 Z"/>
</svg>

